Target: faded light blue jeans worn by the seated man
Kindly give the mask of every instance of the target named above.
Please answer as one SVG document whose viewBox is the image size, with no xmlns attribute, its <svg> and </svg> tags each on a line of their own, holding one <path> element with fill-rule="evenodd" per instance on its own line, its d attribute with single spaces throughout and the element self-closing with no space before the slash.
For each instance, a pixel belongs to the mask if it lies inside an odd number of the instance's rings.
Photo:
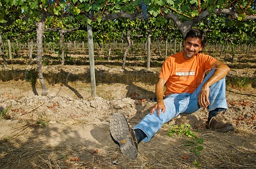
<svg viewBox="0 0 256 169">
<path fill-rule="evenodd" d="M 190 114 L 198 111 L 201 108 L 197 101 L 199 92 L 201 91 L 203 84 L 212 76 L 213 73 L 214 70 L 207 74 L 202 84 L 198 86 L 193 94 L 182 93 L 167 95 L 164 99 L 165 112 L 162 114 L 160 110 L 159 116 L 157 116 L 156 110 L 153 115 L 150 115 L 150 113 L 147 114 L 140 123 L 133 127 L 133 129 L 140 129 L 145 132 L 147 137 L 143 139 L 143 141 L 148 142 L 156 132 L 162 128 L 162 125 L 173 119 L 173 117 L 178 116 L 180 113 Z M 219 108 L 219 111 L 225 111 L 228 108 L 225 93 L 225 78 L 210 86 L 209 111 L 213 111 L 215 108 Z"/>
</svg>

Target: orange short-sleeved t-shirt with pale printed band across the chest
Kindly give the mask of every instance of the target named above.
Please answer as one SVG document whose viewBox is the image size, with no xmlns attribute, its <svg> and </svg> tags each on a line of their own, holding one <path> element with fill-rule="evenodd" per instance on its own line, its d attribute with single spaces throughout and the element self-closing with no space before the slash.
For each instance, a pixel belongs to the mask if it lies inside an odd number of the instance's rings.
<svg viewBox="0 0 256 169">
<path fill-rule="evenodd" d="M 204 74 L 211 71 L 211 65 L 217 61 L 202 53 L 198 53 L 191 60 L 185 60 L 182 55 L 183 52 L 171 55 L 163 63 L 159 78 L 166 80 L 165 96 L 193 93 L 202 83 Z"/>
</svg>

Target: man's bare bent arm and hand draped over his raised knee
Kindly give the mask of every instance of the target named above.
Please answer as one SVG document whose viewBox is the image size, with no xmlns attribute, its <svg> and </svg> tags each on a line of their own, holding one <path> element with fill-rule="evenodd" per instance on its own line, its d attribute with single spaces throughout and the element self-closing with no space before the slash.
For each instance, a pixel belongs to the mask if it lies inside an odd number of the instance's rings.
<svg viewBox="0 0 256 169">
<path fill-rule="evenodd" d="M 199 104 L 199 106 L 204 107 L 204 108 L 206 108 L 210 104 L 210 102 L 209 102 L 210 86 L 213 83 L 216 83 L 216 82 L 220 81 L 222 78 L 224 78 L 228 74 L 228 71 L 230 70 L 226 64 L 224 64 L 220 61 L 214 62 L 212 64 L 211 68 L 214 69 L 215 71 L 214 71 L 212 77 L 209 78 L 209 80 L 207 80 L 204 83 L 204 85 L 201 89 L 201 92 L 198 96 L 198 104 Z"/>
</svg>

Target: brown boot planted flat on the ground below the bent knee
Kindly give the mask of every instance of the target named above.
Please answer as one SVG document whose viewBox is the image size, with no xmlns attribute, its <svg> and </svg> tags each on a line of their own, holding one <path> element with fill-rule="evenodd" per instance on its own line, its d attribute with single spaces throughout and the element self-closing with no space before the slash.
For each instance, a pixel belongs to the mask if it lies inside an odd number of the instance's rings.
<svg viewBox="0 0 256 169">
<path fill-rule="evenodd" d="M 235 129 L 231 123 L 223 123 L 217 117 L 212 117 L 210 122 L 206 123 L 205 128 L 217 132 L 229 132 Z"/>
</svg>

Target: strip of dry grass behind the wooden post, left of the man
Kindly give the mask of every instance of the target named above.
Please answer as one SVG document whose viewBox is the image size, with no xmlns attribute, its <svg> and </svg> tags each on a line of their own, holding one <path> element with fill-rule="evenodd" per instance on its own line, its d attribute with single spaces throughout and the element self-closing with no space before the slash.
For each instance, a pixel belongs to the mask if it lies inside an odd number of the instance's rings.
<svg viewBox="0 0 256 169">
<path fill-rule="evenodd" d="M 12 66 L 12 65 L 10 65 Z M 55 85 L 57 83 L 67 83 L 74 81 L 83 81 L 90 83 L 90 70 L 89 66 L 83 66 L 81 70 L 70 71 L 69 66 L 45 66 L 43 72 L 44 79 L 49 85 Z M 78 66 L 77 66 L 78 67 Z M 86 69 L 84 68 L 86 67 Z M 111 66 L 115 67 L 115 66 Z M 36 66 L 19 65 L 12 66 L 12 69 L 1 69 L 0 80 L 27 80 L 35 81 L 37 79 Z M 131 84 L 134 82 L 152 83 L 155 84 L 158 77 L 158 73 L 152 71 L 142 70 L 129 70 L 124 72 L 109 73 L 104 70 L 95 70 L 96 83 L 124 83 Z"/>
</svg>

